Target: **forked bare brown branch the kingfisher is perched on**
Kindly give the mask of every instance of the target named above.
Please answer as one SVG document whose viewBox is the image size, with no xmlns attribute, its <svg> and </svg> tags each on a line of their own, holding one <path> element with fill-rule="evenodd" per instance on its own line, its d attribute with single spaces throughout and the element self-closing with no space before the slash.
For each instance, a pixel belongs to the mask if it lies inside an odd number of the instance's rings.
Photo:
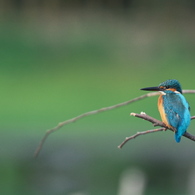
<svg viewBox="0 0 195 195">
<path fill-rule="evenodd" d="M 122 148 L 129 140 L 132 140 L 132 139 L 136 138 L 139 135 L 145 135 L 145 134 L 148 134 L 148 133 L 154 133 L 154 132 L 163 131 L 163 130 L 167 130 L 167 129 L 171 130 L 171 131 L 174 131 L 173 129 L 168 128 L 162 121 L 159 121 L 159 120 L 157 120 L 157 119 L 155 119 L 155 118 L 153 118 L 153 117 L 151 117 L 151 116 L 149 116 L 145 113 L 141 113 L 141 114 L 131 113 L 130 115 L 138 117 L 138 118 L 142 118 L 146 121 L 151 122 L 154 126 L 160 126 L 162 128 L 137 132 L 136 134 L 134 134 L 130 137 L 126 137 L 125 140 L 118 146 L 118 148 Z M 193 120 L 193 119 L 195 119 L 195 116 L 191 117 L 191 120 Z M 191 135 L 188 132 L 185 132 L 185 134 L 183 136 L 190 139 L 190 140 L 192 140 L 192 141 L 195 141 L 195 136 Z"/>
</svg>

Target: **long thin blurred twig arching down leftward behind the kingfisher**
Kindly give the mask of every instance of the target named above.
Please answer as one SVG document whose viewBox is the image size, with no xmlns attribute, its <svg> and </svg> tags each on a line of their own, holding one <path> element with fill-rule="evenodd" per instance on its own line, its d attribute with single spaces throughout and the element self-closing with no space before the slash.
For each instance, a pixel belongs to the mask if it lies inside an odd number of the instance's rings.
<svg viewBox="0 0 195 195">
<path fill-rule="evenodd" d="M 183 90 L 183 93 L 195 93 L 195 90 Z M 79 119 L 81 119 L 81 118 L 83 118 L 83 117 L 89 116 L 89 115 L 94 115 L 94 114 L 97 114 L 97 113 L 100 113 L 100 112 L 104 112 L 104 111 L 112 110 L 112 109 L 115 109 L 115 108 L 119 108 L 119 107 L 128 105 L 128 104 L 130 104 L 130 103 L 136 102 L 136 101 L 138 101 L 138 100 L 141 100 L 141 99 L 144 99 L 144 98 L 147 98 L 147 97 L 156 96 L 156 95 L 158 95 L 158 94 L 159 94 L 159 92 L 147 93 L 147 94 L 144 94 L 144 95 L 139 96 L 139 97 L 137 97 L 137 98 L 131 99 L 131 100 L 129 100 L 129 101 L 122 102 L 122 103 L 119 103 L 119 104 L 116 104 L 116 105 L 113 105 L 113 106 L 109 106 L 109 107 L 104 107 L 104 108 L 101 108 L 101 109 L 98 109 L 98 110 L 86 112 L 86 113 L 81 114 L 81 115 L 79 115 L 79 116 L 77 116 L 77 117 L 74 117 L 74 118 L 72 118 L 72 119 L 69 119 L 69 120 L 60 122 L 60 123 L 59 123 L 57 126 L 55 126 L 54 128 L 49 129 L 49 130 L 46 131 L 44 137 L 42 138 L 42 140 L 40 141 L 40 143 L 39 143 L 37 149 L 35 150 L 34 156 L 37 157 L 37 156 L 39 155 L 39 153 L 40 153 L 40 151 L 41 151 L 41 149 L 42 149 L 42 147 L 43 147 L 43 144 L 45 143 L 47 137 L 48 137 L 51 133 L 53 133 L 53 132 L 59 130 L 59 129 L 60 129 L 61 127 L 63 127 L 64 125 L 67 125 L 67 124 L 69 124 L 69 123 L 73 123 L 73 122 L 75 122 L 75 121 L 77 121 L 77 120 L 79 120 Z"/>
</svg>

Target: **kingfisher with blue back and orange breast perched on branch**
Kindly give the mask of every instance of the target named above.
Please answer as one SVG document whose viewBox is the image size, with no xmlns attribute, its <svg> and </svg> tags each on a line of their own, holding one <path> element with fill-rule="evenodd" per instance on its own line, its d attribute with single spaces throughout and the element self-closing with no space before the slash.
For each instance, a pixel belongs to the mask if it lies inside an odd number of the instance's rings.
<svg viewBox="0 0 195 195">
<path fill-rule="evenodd" d="M 179 143 L 191 120 L 190 106 L 182 95 L 179 81 L 170 79 L 160 83 L 158 87 L 147 87 L 141 90 L 160 92 L 158 110 L 161 119 L 175 132 L 175 141 Z"/>
</svg>

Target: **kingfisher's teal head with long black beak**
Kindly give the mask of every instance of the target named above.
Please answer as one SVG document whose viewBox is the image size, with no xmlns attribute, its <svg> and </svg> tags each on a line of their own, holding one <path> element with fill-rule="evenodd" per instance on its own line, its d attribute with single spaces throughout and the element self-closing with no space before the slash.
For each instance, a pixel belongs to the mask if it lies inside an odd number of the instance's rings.
<svg viewBox="0 0 195 195">
<path fill-rule="evenodd" d="M 162 91 L 164 93 L 166 92 L 175 92 L 175 93 L 182 93 L 181 85 L 178 80 L 170 79 L 166 80 L 163 83 L 160 83 L 158 87 L 147 87 L 142 88 L 141 90 L 145 91 Z"/>
</svg>

